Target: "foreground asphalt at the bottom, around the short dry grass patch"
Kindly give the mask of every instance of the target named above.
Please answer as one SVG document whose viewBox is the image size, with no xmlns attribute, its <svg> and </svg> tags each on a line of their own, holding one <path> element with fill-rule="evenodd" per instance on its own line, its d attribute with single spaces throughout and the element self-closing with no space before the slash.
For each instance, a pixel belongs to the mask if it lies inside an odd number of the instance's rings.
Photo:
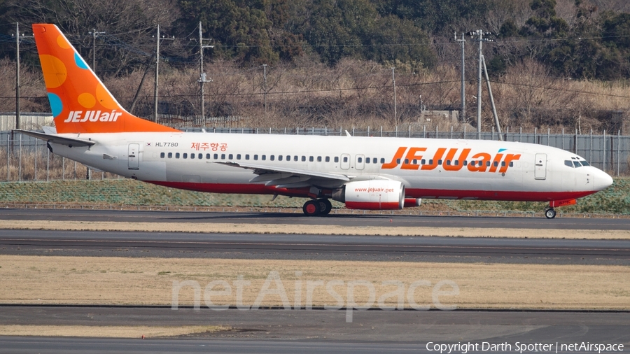
<svg viewBox="0 0 630 354">
<path fill-rule="evenodd" d="M 344 310 L 174 311 L 90 306 L 3 306 L 0 310 L 0 323 L 15 325 L 232 327 L 228 332 L 144 341 L 0 337 L 0 353 L 428 353 L 428 342 L 470 342 L 479 349 L 483 342 L 507 343 L 512 352 L 517 342 L 630 345 L 630 314 L 623 312 L 354 311 L 353 322 L 346 323 Z"/>
</svg>

